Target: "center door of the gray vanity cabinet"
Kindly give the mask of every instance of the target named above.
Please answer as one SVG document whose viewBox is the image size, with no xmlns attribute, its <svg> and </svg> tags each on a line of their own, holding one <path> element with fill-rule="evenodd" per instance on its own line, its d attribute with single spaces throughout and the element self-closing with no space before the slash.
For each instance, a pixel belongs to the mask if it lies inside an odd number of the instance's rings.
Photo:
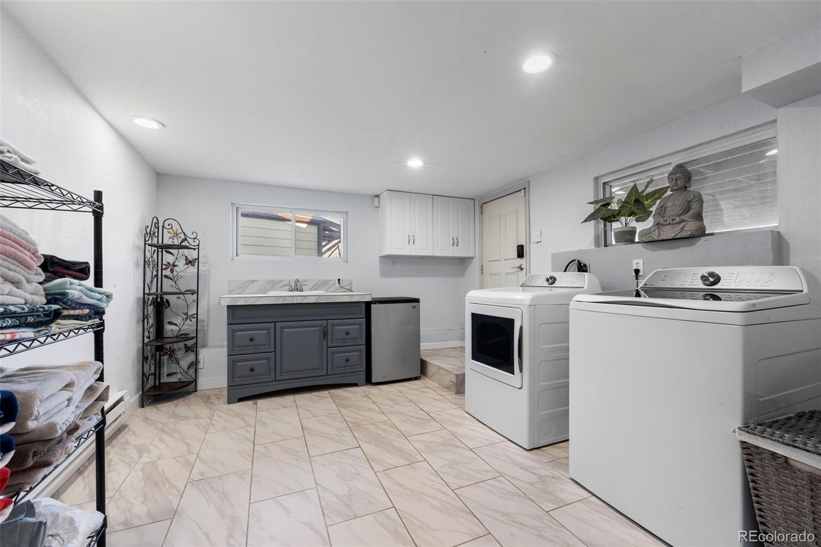
<svg viewBox="0 0 821 547">
<path fill-rule="evenodd" d="M 276 379 L 328 374 L 328 322 L 277 323 Z"/>
</svg>

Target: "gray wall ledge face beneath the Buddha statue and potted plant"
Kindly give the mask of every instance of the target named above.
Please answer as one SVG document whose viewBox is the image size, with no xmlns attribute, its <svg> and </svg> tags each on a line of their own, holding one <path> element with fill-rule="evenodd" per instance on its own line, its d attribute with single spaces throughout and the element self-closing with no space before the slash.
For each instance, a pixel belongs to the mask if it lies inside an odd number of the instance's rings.
<svg viewBox="0 0 821 547">
<path fill-rule="evenodd" d="M 551 257 L 551 269 L 561 272 L 568 262 L 579 259 L 589 264 L 590 273 L 599 279 L 603 291 L 615 291 L 635 287 L 633 259 L 644 260 L 647 276 L 662 268 L 782 264 L 781 253 L 782 237 L 778 232 L 739 232 L 558 252 Z"/>
</svg>

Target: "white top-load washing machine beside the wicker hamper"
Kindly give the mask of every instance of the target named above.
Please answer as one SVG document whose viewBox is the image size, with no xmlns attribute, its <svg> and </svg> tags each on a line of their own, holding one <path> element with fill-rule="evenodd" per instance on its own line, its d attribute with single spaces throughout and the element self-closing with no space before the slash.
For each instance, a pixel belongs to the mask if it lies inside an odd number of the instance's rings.
<svg viewBox="0 0 821 547">
<path fill-rule="evenodd" d="M 571 477 L 672 545 L 739 545 L 758 526 L 732 428 L 821 407 L 810 281 L 790 266 L 659 269 L 576 296 Z"/>
</svg>

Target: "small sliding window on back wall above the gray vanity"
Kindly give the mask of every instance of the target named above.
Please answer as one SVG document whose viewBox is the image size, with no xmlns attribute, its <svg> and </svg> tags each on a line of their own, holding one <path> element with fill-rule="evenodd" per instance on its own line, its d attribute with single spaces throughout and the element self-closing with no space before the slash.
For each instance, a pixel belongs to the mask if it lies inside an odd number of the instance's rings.
<svg viewBox="0 0 821 547">
<path fill-rule="evenodd" d="M 233 257 L 346 260 L 347 213 L 233 205 Z"/>
</svg>

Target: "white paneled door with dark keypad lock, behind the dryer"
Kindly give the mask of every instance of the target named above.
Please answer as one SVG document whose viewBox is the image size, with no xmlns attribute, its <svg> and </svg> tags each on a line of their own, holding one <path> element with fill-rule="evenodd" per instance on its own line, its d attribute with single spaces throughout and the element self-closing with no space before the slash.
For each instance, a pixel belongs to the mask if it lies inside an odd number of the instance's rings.
<svg viewBox="0 0 821 547">
<path fill-rule="evenodd" d="M 516 246 L 525 245 L 525 190 L 482 205 L 482 287 L 517 287 L 524 280 L 525 258 Z"/>
</svg>

